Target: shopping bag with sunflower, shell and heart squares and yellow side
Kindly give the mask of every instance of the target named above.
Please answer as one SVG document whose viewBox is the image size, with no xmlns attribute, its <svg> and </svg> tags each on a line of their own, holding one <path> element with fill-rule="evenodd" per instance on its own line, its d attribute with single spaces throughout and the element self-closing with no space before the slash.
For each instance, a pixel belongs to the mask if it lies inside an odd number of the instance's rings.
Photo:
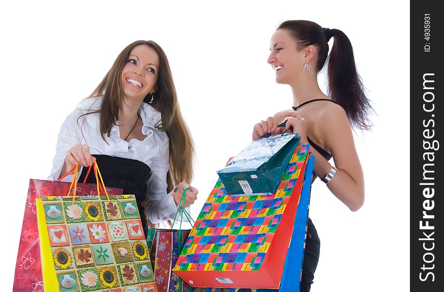
<svg viewBox="0 0 444 292">
<path fill-rule="evenodd" d="M 157 291 L 134 195 L 42 197 L 37 220 L 47 291 Z"/>
</svg>

